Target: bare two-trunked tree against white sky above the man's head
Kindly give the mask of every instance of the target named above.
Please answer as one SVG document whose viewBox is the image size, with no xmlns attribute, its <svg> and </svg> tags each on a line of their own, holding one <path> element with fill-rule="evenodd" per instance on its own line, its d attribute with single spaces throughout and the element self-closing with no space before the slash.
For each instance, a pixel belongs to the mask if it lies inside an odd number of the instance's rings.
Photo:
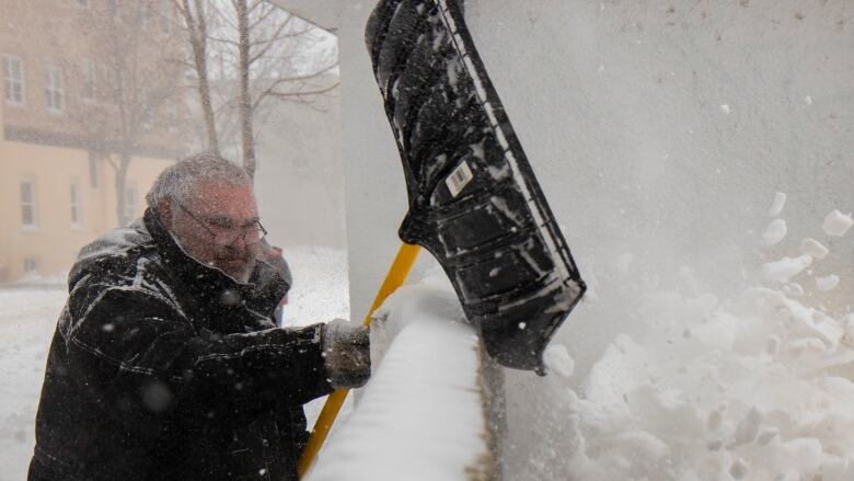
<svg viewBox="0 0 854 481">
<path fill-rule="evenodd" d="M 318 56 L 316 47 L 307 51 L 322 42 L 322 32 L 265 0 L 210 0 L 206 9 L 200 0 L 172 1 L 191 44 L 206 129 L 216 130 L 207 145 L 231 146 L 254 177 L 255 127 L 267 117 L 270 101 L 310 103 L 336 89 L 337 81 L 316 83 L 337 68 L 336 55 L 320 55 L 320 62 L 310 58 Z M 210 65 L 218 67 L 212 75 Z"/>
</svg>

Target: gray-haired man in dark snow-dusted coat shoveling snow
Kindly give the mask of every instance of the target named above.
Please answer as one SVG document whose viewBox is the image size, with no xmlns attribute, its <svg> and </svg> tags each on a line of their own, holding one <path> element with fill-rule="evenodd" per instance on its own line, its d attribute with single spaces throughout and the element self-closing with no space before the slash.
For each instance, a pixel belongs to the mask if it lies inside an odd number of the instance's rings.
<svg viewBox="0 0 854 481">
<path fill-rule="evenodd" d="M 177 162 L 147 201 L 69 274 L 30 480 L 295 480 L 302 403 L 367 381 L 367 330 L 274 327 L 285 283 L 236 165 Z"/>
</svg>

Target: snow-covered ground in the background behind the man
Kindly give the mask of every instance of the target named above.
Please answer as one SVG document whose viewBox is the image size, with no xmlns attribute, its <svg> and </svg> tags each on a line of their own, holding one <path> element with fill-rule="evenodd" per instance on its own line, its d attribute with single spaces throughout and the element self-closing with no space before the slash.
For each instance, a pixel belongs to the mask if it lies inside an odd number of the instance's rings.
<svg viewBox="0 0 854 481">
<path fill-rule="evenodd" d="M 348 316 L 346 252 L 291 248 L 285 257 L 295 277 L 288 325 Z M 47 348 L 67 295 L 60 278 L 28 278 L 0 289 L 0 481 L 26 479 Z M 310 424 L 321 406 L 322 401 L 307 405 Z"/>
</svg>

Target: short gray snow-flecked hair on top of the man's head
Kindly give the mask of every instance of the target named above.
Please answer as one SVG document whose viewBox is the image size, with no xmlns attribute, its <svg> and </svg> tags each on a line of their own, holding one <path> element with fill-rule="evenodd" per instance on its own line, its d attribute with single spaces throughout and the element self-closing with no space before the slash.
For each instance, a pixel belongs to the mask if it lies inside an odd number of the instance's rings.
<svg viewBox="0 0 854 481">
<path fill-rule="evenodd" d="M 187 203 L 193 187 L 201 182 L 252 185 L 252 179 L 240 165 L 214 153 L 198 153 L 165 168 L 151 185 L 146 202 L 153 209 L 164 199 Z"/>
</svg>

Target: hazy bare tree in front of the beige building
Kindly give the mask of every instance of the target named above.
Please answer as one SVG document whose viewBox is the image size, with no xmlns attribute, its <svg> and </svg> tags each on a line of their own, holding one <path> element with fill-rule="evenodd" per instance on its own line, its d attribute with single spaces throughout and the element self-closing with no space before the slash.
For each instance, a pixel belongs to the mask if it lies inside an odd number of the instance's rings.
<svg viewBox="0 0 854 481">
<path fill-rule="evenodd" d="M 127 225 L 127 172 L 143 151 L 176 152 L 184 139 L 176 131 L 182 92 L 176 89 L 181 66 L 168 60 L 164 49 L 178 44 L 169 15 L 160 3 L 108 2 L 81 19 L 92 33 L 92 56 L 101 73 L 97 99 L 81 104 L 77 116 L 91 149 L 115 171 L 116 218 Z M 172 117 L 166 119 L 165 117 Z"/>
</svg>

